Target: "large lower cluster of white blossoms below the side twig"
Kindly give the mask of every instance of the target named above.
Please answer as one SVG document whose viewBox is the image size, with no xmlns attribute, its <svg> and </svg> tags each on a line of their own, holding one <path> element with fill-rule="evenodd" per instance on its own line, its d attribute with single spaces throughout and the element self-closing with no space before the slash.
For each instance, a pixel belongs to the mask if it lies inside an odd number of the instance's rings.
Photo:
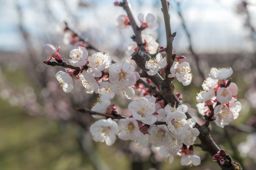
<svg viewBox="0 0 256 170">
<path fill-rule="evenodd" d="M 182 149 L 184 146 L 187 148 L 187 146 L 193 145 L 195 137 L 199 135 L 198 129 L 194 127 L 195 119 L 187 119 L 185 114 L 187 106 L 181 104 L 176 108 L 167 104 L 165 107 L 159 108 L 159 102 L 161 101 L 156 101 L 154 96 L 144 96 L 131 101 L 128 105 L 130 117 L 118 121 L 118 131 L 110 128 L 115 122 L 111 119 L 108 119 L 108 122 L 100 127 L 104 129 L 103 131 L 98 130 L 99 126 L 95 126 L 98 123 L 95 122 L 90 128 L 93 139 L 97 136 L 95 141 L 105 141 L 107 145 L 112 145 L 116 139 L 115 135 L 117 135 L 121 140 L 138 141 L 144 147 L 150 143 L 159 150 L 163 157 L 169 157 L 170 163 L 172 163 L 174 155 L 182 155 L 182 165 L 199 165 L 200 157 L 193 155 L 192 149 Z M 112 107 L 110 102 L 107 104 L 109 106 L 103 104 L 102 101 L 96 105 L 101 113 L 107 113 L 105 108 Z M 157 121 L 159 123 L 156 124 Z M 105 129 L 108 129 L 108 133 Z M 108 140 L 111 142 L 103 139 L 108 134 Z M 102 137 L 100 140 L 99 136 Z"/>
</svg>

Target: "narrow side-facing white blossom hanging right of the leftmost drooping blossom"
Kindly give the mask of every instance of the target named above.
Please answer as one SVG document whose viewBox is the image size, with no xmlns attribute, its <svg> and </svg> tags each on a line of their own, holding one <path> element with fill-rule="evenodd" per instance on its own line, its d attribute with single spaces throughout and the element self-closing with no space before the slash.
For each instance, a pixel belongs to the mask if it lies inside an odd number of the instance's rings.
<svg viewBox="0 0 256 170">
<path fill-rule="evenodd" d="M 94 91 L 97 93 L 98 90 L 98 84 L 94 77 L 92 77 L 87 71 L 83 71 L 82 75 L 80 75 L 80 80 L 82 81 L 82 84 L 86 90 L 86 93 L 92 94 Z"/>
</svg>

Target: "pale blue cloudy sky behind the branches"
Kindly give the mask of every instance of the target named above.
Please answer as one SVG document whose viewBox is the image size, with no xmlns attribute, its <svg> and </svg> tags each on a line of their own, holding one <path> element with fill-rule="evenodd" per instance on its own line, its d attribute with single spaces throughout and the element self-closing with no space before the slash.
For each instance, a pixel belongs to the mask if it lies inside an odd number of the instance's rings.
<svg viewBox="0 0 256 170">
<path fill-rule="evenodd" d="M 4 16 L 0 18 L 0 49 L 20 51 L 24 48 L 23 39 L 17 27 L 16 5 L 18 4 L 23 11 L 24 28 L 30 34 L 35 48 L 47 41 L 52 41 L 52 35 L 59 34 L 56 27 L 66 20 L 75 30 L 90 33 L 89 38 L 93 38 L 93 42 L 100 44 L 101 48 L 108 50 L 118 46 L 121 50 L 125 50 L 131 43 L 129 37 L 133 32 L 131 28 L 118 30 L 115 27 L 115 19 L 118 15 L 125 14 L 125 11 L 115 7 L 113 0 L 82 2 L 89 3 L 91 7 L 79 7 L 79 0 L 0 1 L 0 15 Z M 174 1 L 170 0 L 170 2 L 172 31 L 177 31 L 174 48 L 187 51 L 187 36 L 184 34 Z M 238 0 L 182 0 L 180 2 L 196 51 L 208 53 L 253 51 L 249 38 L 250 32 L 244 27 L 244 15 L 238 15 L 234 11 Z M 156 15 L 157 22 L 160 24 L 159 30 L 154 32 L 146 30 L 145 33 L 153 33 L 159 38 L 159 43 L 164 46 L 164 23 L 160 0 L 130 0 L 130 3 L 135 17 L 138 13 Z M 248 9 L 255 24 L 256 5 L 251 5 Z M 47 11 L 51 11 L 51 15 L 48 15 Z"/>
</svg>

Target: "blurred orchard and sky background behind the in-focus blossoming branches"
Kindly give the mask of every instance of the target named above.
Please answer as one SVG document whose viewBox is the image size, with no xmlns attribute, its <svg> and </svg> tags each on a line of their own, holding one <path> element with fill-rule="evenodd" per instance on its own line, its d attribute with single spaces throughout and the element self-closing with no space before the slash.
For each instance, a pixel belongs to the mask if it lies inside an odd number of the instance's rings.
<svg viewBox="0 0 256 170">
<path fill-rule="evenodd" d="M 174 82 L 175 92 L 197 121 L 196 93 L 211 67 L 232 67 L 238 85 L 240 116 L 224 129 L 212 123 L 211 135 L 220 148 L 253 170 L 256 163 L 256 1 L 170 0 L 174 53 L 184 55 L 192 68 L 192 84 Z M 120 30 L 116 18 L 125 14 L 113 0 L 8 0 L 0 1 L 0 169 L 1 170 L 182 170 L 175 157 L 169 165 L 159 153 L 133 142 L 117 140 L 111 147 L 95 143 L 88 129 L 95 120 L 75 107 L 91 108 L 97 95 L 81 93 L 74 84 L 64 93 L 54 78 L 61 67 L 46 66 L 44 44 L 61 46 L 66 61 L 76 48 L 64 34 L 69 28 L 116 61 L 130 60 L 127 46 L 131 28 Z M 159 29 L 145 30 L 166 46 L 160 0 L 130 0 L 133 15 L 152 13 Z M 138 20 L 137 20 L 138 22 Z M 95 53 L 89 50 L 89 53 Z M 199 68 L 197 67 L 197 63 Z M 139 95 L 139 92 L 137 92 Z M 130 100 L 112 100 L 119 112 L 127 112 Z M 191 170 L 219 170 L 200 148 L 201 165 Z"/>
</svg>

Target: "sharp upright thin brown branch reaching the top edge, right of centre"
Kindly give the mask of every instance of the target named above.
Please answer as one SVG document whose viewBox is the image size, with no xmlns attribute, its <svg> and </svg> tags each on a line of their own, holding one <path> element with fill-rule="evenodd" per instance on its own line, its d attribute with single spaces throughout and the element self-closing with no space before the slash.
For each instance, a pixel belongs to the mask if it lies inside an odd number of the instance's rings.
<svg viewBox="0 0 256 170">
<path fill-rule="evenodd" d="M 171 30 L 171 24 L 170 24 L 170 14 L 168 12 L 168 5 L 166 0 L 161 0 L 162 4 L 162 12 L 164 14 L 164 25 L 165 25 L 165 31 L 166 31 L 166 61 L 167 61 L 167 66 L 166 69 L 169 71 L 172 67 L 172 64 L 174 62 L 172 58 L 172 42 L 174 40 L 174 37 L 176 36 L 176 33 L 172 35 L 172 30 Z M 168 72 L 167 72 L 168 73 Z M 171 84 L 172 79 L 168 77 L 168 74 L 166 73 L 165 79 L 167 81 L 167 84 Z"/>
</svg>

